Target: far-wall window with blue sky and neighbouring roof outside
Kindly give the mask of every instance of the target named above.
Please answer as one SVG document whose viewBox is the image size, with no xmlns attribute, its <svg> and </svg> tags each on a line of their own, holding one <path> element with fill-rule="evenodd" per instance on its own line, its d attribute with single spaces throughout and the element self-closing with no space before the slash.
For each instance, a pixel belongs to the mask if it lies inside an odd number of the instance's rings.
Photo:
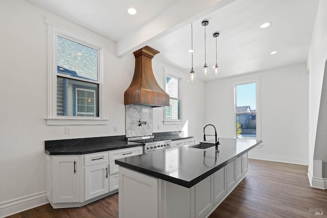
<svg viewBox="0 0 327 218">
<path fill-rule="evenodd" d="M 234 84 L 237 138 L 260 138 L 259 80 Z"/>
</svg>

